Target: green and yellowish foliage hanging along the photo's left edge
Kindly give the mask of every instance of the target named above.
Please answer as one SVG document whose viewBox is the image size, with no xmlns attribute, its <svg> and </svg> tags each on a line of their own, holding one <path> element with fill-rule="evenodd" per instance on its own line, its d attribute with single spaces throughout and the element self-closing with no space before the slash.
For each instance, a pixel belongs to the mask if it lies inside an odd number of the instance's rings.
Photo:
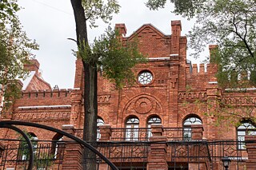
<svg viewBox="0 0 256 170">
<path fill-rule="evenodd" d="M 7 102 L 18 97 L 18 83 L 14 80 L 26 78 L 28 72 L 23 65 L 32 58 L 31 50 L 38 49 L 38 45 L 22 31 L 16 2 L 0 2 L 0 96 L 4 94 Z"/>
</svg>

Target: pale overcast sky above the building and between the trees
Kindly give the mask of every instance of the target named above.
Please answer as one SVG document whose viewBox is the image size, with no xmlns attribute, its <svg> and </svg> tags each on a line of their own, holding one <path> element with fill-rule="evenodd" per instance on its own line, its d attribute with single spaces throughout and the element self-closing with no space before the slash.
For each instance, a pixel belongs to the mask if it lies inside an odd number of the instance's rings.
<svg viewBox="0 0 256 170">
<path fill-rule="evenodd" d="M 70 0 L 19 0 L 24 9 L 18 15 L 23 30 L 29 38 L 35 39 L 40 46 L 34 51 L 36 59 L 40 62 L 42 77 L 52 87 L 58 85 L 60 89 L 70 89 L 74 86 L 75 57 L 71 49 L 76 49 L 74 42 L 67 38 L 76 38 L 73 10 Z M 146 0 L 119 0 L 122 6 L 119 14 L 115 14 L 111 26 L 116 23 L 125 23 L 126 36 L 146 23 L 151 23 L 164 34 L 170 34 L 170 22 L 182 21 L 182 35 L 193 26 L 193 22 L 170 13 L 172 6 L 166 9 L 152 11 L 145 6 Z M 98 28 L 88 30 L 89 39 L 106 30 L 107 25 L 97 22 Z M 190 58 L 191 59 L 191 58 Z"/>
</svg>

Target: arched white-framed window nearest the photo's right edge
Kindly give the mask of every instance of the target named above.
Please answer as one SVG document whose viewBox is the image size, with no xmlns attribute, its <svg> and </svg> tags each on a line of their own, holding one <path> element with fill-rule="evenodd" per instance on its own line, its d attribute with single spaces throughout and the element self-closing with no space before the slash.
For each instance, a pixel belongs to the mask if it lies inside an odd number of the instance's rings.
<svg viewBox="0 0 256 170">
<path fill-rule="evenodd" d="M 246 135 L 256 135 L 255 126 L 250 121 L 244 121 L 237 128 L 238 132 L 238 149 L 246 149 L 246 144 L 242 141 L 245 140 Z"/>
</svg>

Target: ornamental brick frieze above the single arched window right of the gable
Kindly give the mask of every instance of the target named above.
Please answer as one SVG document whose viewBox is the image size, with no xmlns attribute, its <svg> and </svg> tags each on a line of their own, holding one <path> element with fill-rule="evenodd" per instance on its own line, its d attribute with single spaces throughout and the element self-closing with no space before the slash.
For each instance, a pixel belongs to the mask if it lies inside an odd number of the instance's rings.
<svg viewBox="0 0 256 170">
<path fill-rule="evenodd" d="M 198 91 L 198 92 L 179 92 L 178 100 L 207 100 L 206 91 Z"/>
</svg>

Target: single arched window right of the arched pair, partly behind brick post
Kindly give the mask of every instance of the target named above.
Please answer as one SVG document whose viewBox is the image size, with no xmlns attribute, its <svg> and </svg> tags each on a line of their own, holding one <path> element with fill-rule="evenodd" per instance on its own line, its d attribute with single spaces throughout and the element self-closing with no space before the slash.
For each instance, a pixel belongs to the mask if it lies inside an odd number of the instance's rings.
<svg viewBox="0 0 256 170">
<path fill-rule="evenodd" d="M 187 117 L 183 122 L 183 138 L 184 140 L 191 140 L 191 125 L 202 125 L 200 118 L 196 116 Z"/>
</svg>

